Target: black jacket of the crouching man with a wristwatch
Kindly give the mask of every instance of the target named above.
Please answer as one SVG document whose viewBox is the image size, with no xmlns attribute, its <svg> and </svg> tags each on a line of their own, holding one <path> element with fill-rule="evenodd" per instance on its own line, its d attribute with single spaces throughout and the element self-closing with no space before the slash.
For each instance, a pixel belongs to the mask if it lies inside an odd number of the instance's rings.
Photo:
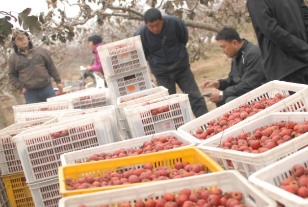
<svg viewBox="0 0 308 207">
<path fill-rule="evenodd" d="M 219 90 L 223 91 L 225 98 L 250 92 L 264 80 L 259 47 L 245 39 L 243 41 L 242 48 L 232 59 L 228 78 L 219 80 Z"/>
</svg>

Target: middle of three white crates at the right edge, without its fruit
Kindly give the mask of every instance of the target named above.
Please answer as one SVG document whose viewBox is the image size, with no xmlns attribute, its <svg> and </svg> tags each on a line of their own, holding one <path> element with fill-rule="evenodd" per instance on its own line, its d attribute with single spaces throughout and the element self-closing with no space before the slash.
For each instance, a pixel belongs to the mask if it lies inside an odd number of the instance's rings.
<svg viewBox="0 0 308 207">
<path fill-rule="evenodd" d="M 266 167 L 269 164 L 274 163 L 307 145 L 308 133 L 293 138 L 279 146 L 259 154 L 222 149 L 217 146 L 222 144 L 222 142 L 230 136 L 236 137 L 238 134 L 243 132 L 252 133 L 258 127 L 282 120 L 290 120 L 297 123 L 303 122 L 308 120 L 308 112 L 273 113 L 266 115 L 251 121 L 250 123 L 239 124 L 237 128 L 225 132 L 221 137 L 207 139 L 199 144 L 198 148 L 202 149 L 207 155 L 213 158 L 213 160 L 225 169 L 233 169 L 234 167 L 235 170 L 238 170 L 248 178 L 257 170 L 262 169 L 263 167 Z M 232 162 L 233 167 L 228 165 L 228 161 Z"/>
</svg>

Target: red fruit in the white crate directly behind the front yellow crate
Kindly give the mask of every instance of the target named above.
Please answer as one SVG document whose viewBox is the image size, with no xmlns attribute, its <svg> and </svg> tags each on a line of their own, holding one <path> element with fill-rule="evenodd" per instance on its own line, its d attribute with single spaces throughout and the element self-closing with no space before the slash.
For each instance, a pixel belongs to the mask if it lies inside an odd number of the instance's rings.
<svg viewBox="0 0 308 207">
<path fill-rule="evenodd" d="M 94 154 L 89 158 L 86 158 L 85 162 L 89 161 L 99 161 L 99 160 L 108 160 L 114 158 L 124 158 L 129 156 L 135 156 L 140 154 L 148 154 L 153 152 L 159 152 L 163 150 L 174 149 L 182 146 L 187 146 L 189 143 L 183 143 L 179 141 L 174 136 L 164 136 L 152 138 L 150 141 L 145 141 L 142 146 L 137 149 L 130 148 L 124 149 L 120 148 L 115 150 L 113 153 L 100 153 Z M 76 161 L 76 163 L 82 163 L 81 160 Z"/>
</svg>

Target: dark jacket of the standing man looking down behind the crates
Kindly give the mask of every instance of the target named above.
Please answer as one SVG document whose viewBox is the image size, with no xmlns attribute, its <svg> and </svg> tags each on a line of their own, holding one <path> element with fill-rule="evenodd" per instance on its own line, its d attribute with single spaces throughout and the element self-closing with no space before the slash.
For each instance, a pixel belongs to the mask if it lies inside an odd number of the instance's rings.
<svg viewBox="0 0 308 207">
<path fill-rule="evenodd" d="M 186 25 L 176 16 L 164 16 L 160 34 L 155 35 L 146 25 L 134 34 L 141 35 L 142 46 L 152 73 L 163 76 L 169 73 L 176 76 L 189 67 L 186 49 L 188 30 Z"/>
</svg>

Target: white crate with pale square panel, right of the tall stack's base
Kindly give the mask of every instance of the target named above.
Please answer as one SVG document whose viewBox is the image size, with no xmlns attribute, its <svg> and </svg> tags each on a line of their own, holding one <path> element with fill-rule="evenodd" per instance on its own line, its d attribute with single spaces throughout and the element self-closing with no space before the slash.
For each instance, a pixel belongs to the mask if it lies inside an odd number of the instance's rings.
<svg viewBox="0 0 308 207">
<path fill-rule="evenodd" d="M 124 108 L 133 138 L 177 130 L 193 119 L 188 94 L 172 94 L 151 100 L 151 102 L 154 101 L 159 102 L 146 106 L 139 103 Z M 152 115 L 152 110 L 165 106 L 169 107 L 169 111 Z"/>
</svg>

